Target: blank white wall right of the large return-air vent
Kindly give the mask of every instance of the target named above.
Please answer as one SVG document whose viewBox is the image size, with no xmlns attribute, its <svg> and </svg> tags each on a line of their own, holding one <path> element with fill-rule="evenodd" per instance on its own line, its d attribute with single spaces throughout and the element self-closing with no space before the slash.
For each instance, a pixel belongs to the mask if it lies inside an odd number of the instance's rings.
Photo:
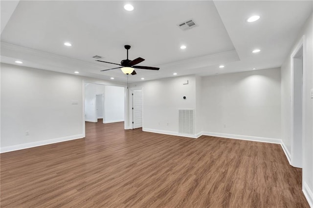
<svg viewBox="0 0 313 208">
<path fill-rule="evenodd" d="M 279 68 L 203 77 L 201 97 L 205 134 L 280 139 Z"/>
</svg>

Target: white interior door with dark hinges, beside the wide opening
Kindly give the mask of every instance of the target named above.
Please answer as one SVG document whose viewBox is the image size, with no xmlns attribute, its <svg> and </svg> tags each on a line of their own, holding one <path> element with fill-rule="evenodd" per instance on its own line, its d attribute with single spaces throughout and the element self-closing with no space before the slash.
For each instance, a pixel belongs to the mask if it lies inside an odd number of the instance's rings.
<svg viewBox="0 0 313 208">
<path fill-rule="evenodd" d="M 142 127 L 142 90 L 135 89 L 133 96 L 133 128 Z"/>
</svg>

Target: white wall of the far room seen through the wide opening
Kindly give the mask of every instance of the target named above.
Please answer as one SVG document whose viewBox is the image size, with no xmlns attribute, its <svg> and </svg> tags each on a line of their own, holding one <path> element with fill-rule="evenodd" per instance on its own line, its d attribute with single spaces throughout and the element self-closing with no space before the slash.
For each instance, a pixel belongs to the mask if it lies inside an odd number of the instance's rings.
<svg viewBox="0 0 313 208">
<path fill-rule="evenodd" d="M 104 95 L 104 123 L 124 121 L 124 87 L 85 83 L 85 119 L 97 122 L 96 94 Z"/>
</svg>

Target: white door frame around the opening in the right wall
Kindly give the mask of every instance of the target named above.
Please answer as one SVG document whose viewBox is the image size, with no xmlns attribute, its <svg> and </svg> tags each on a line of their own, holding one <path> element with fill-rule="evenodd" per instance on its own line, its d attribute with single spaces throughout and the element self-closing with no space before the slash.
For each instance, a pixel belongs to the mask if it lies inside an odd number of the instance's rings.
<svg viewBox="0 0 313 208">
<path fill-rule="evenodd" d="M 302 60 L 302 138 L 301 138 L 301 156 L 300 158 L 296 158 L 295 155 L 295 137 L 294 137 L 294 58 L 296 58 L 297 53 L 301 50 L 303 51 L 303 60 Z M 304 159 L 304 138 L 305 138 L 305 95 L 306 95 L 306 90 L 305 90 L 305 77 L 306 77 L 306 37 L 302 36 L 300 41 L 297 43 L 295 46 L 294 50 L 291 53 L 291 155 L 290 155 L 290 164 L 291 166 L 295 167 L 303 167 L 303 159 Z M 299 165 L 299 162 L 296 162 L 296 160 L 301 160 L 301 165 Z"/>
</svg>

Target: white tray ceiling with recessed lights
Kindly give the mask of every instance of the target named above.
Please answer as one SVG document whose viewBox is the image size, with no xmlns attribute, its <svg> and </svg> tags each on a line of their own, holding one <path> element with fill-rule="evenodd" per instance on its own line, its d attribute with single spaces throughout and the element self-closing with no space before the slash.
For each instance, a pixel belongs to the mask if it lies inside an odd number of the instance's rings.
<svg viewBox="0 0 313 208">
<path fill-rule="evenodd" d="M 24 1 L 1 0 L 1 62 L 125 82 L 119 69 L 100 72 L 129 58 L 145 59 L 130 82 L 178 75 L 247 71 L 280 67 L 305 20 L 312 1 Z M 12 10 L 12 7 L 15 11 Z M 3 12 L 5 11 L 5 12 Z M 11 16 L 12 14 L 12 16 Z M 251 15 L 259 21 L 248 23 Z M 10 17 L 11 16 L 11 17 Z M 177 24 L 198 26 L 182 31 Z M 3 23 L 3 21 L 6 21 Z M 63 45 L 71 42 L 72 46 Z M 185 44 L 187 48 L 179 47 Z M 252 54 L 254 48 L 261 52 Z M 224 69 L 219 65 L 224 64 Z"/>
</svg>

